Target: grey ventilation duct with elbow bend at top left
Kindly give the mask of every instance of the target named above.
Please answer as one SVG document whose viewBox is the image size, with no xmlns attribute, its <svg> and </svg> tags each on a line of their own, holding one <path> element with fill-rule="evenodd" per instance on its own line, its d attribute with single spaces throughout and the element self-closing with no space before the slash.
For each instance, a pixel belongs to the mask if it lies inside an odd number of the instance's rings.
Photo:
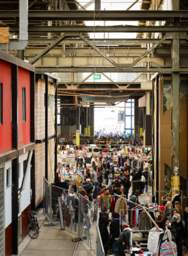
<svg viewBox="0 0 188 256">
<path fill-rule="evenodd" d="M 0 44 L 1 50 L 24 50 L 28 45 L 28 0 L 19 0 L 19 40 Z"/>
</svg>

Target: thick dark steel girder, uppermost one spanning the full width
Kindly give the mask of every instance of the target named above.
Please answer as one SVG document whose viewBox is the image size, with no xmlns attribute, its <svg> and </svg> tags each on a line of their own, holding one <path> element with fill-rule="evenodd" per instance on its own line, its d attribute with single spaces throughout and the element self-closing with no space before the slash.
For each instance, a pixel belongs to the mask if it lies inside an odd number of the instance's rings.
<svg viewBox="0 0 188 256">
<path fill-rule="evenodd" d="M 1 20 L 19 18 L 19 11 L 0 11 Z M 85 20 L 85 21 L 172 21 L 188 18 L 188 11 L 28 11 L 29 20 Z"/>
</svg>

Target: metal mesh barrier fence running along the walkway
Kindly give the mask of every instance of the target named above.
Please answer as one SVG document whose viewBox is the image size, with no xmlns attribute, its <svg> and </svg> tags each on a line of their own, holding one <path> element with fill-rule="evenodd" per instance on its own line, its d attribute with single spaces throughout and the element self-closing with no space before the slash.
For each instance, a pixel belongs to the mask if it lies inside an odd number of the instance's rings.
<svg viewBox="0 0 188 256">
<path fill-rule="evenodd" d="M 62 230 L 67 230 L 81 238 L 97 256 L 105 255 L 99 232 L 97 205 L 79 193 L 71 193 L 44 179 L 43 211 L 50 224 L 59 226 Z"/>
</svg>

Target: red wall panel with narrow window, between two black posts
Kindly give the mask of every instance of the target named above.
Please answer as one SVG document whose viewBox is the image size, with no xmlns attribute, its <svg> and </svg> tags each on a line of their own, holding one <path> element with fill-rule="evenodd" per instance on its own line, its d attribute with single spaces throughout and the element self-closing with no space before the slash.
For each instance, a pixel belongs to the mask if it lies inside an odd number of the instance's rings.
<svg viewBox="0 0 188 256">
<path fill-rule="evenodd" d="M 26 88 L 26 122 L 22 121 L 22 87 Z M 30 143 L 30 71 L 18 68 L 18 148 Z"/>
</svg>

